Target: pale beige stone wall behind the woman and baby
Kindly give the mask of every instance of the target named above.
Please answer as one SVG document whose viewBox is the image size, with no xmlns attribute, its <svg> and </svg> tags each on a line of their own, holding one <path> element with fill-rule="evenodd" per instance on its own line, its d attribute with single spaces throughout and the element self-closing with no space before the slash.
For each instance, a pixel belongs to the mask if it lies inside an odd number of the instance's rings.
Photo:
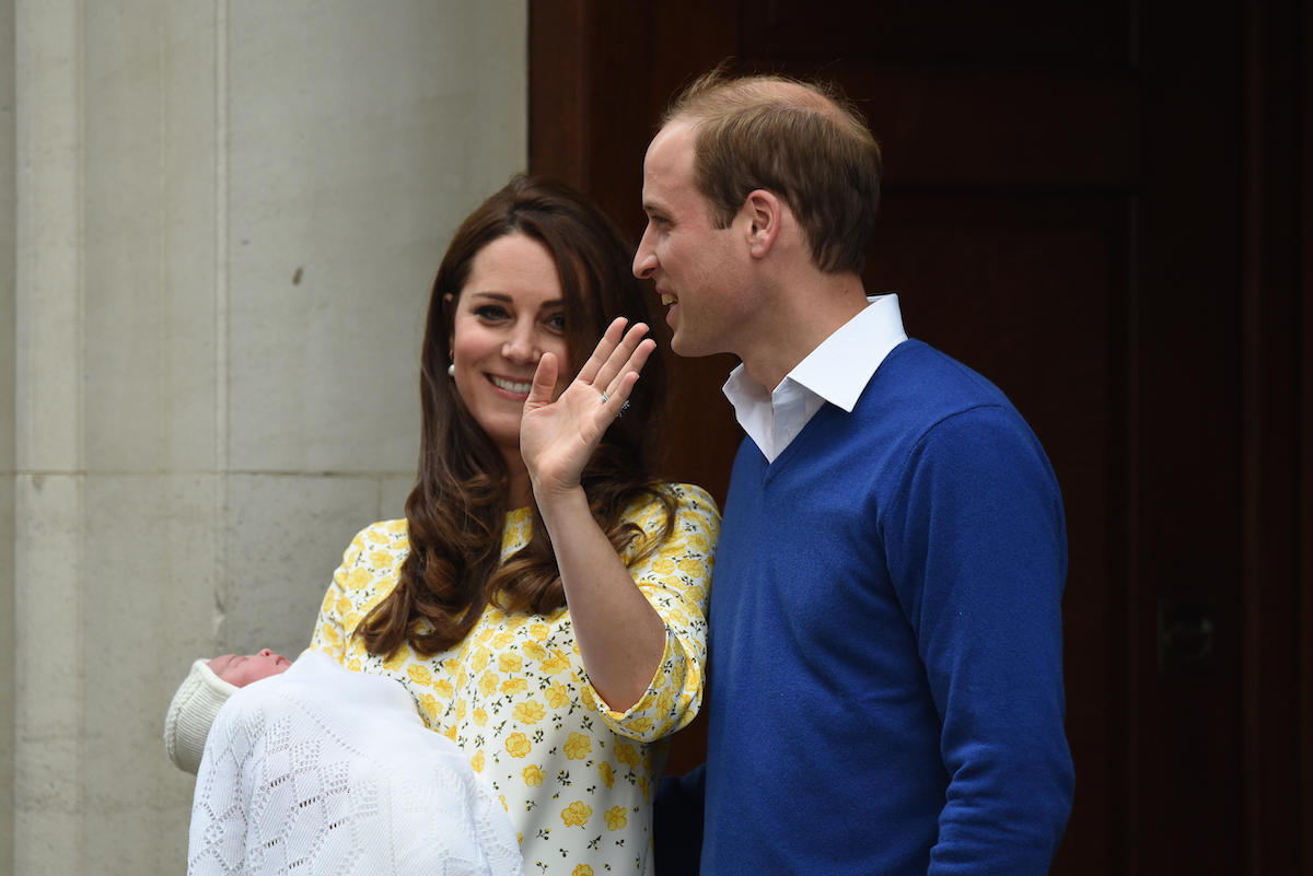
<svg viewBox="0 0 1313 876">
<path fill-rule="evenodd" d="M 525 28 L 0 3 L 0 872 L 185 871 L 164 708 L 196 656 L 298 653 L 400 514 L 428 285 L 525 164 Z"/>
</svg>

